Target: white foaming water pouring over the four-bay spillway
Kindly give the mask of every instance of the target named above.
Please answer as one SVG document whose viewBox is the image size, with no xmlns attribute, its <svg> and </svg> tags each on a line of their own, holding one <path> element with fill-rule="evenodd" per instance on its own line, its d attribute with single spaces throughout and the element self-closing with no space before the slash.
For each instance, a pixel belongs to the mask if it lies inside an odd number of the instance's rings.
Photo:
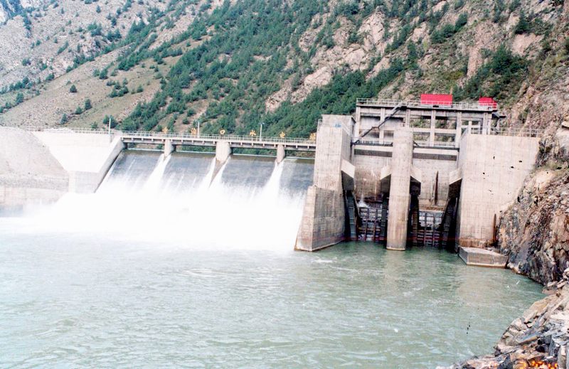
<svg viewBox="0 0 569 369">
<path fill-rule="evenodd" d="M 202 247 L 290 249 L 307 187 L 309 159 L 124 151 L 97 193 L 68 194 L 39 215 L 52 229 L 102 230 Z M 270 242 L 267 242 L 270 240 Z"/>
</svg>

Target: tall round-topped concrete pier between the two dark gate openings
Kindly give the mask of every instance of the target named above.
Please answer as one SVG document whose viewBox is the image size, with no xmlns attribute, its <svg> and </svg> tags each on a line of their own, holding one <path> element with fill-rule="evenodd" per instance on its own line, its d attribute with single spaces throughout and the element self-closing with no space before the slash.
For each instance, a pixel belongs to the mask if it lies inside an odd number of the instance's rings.
<svg viewBox="0 0 569 369">
<path fill-rule="evenodd" d="M 393 134 L 387 228 L 388 250 L 405 250 L 413 168 L 413 131 L 400 127 Z"/>
</svg>

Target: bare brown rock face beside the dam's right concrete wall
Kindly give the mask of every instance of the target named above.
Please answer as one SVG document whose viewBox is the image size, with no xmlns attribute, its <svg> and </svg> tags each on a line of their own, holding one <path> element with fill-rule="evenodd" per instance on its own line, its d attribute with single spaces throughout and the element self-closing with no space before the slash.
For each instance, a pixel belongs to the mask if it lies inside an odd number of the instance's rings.
<svg viewBox="0 0 569 369">
<path fill-rule="evenodd" d="M 499 245 L 509 267 L 547 284 L 569 267 L 569 128 L 541 142 L 536 171 L 499 226 Z"/>
</svg>

